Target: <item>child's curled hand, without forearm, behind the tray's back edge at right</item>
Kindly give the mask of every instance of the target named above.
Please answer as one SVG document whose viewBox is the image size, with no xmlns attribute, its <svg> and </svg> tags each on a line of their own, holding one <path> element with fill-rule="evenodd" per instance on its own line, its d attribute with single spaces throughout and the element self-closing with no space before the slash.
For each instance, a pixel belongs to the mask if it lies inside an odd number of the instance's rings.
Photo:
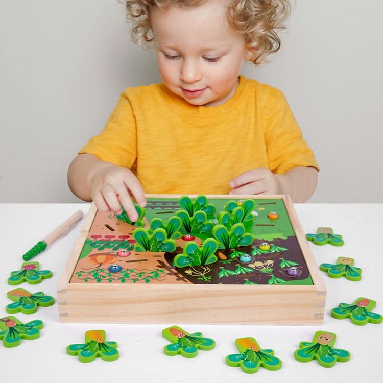
<svg viewBox="0 0 383 383">
<path fill-rule="evenodd" d="M 281 194 L 277 177 L 265 167 L 248 170 L 230 181 L 229 194 Z"/>
</svg>

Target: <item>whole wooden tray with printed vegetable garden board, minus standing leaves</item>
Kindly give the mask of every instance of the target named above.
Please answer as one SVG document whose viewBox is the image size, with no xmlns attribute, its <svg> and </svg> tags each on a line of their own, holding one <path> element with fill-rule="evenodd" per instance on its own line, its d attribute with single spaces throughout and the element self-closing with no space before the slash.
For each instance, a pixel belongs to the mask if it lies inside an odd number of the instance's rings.
<svg viewBox="0 0 383 383">
<path fill-rule="evenodd" d="M 180 197 L 148 195 L 145 227 L 153 218 L 166 222 L 174 216 L 181 209 Z M 254 218 L 247 231 L 254 239 L 248 246 L 218 249 L 213 264 L 184 268 L 173 264 L 188 242 L 182 234 L 172 253 L 134 251 L 136 227 L 91 204 L 58 285 L 60 320 L 321 324 L 326 289 L 290 197 L 206 197 L 216 207 L 214 223 L 229 201 L 240 206 L 252 199 Z M 269 218 L 272 212 L 278 219 Z M 211 237 L 193 235 L 198 245 Z M 288 275 L 292 266 L 295 273 Z"/>
</svg>

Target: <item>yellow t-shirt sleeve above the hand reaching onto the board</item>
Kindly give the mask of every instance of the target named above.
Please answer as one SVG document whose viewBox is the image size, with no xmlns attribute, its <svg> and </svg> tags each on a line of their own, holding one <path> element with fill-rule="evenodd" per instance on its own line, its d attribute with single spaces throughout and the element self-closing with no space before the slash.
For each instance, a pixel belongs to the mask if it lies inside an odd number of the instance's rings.
<svg viewBox="0 0 383 383">
<path fill-rule="evenodd" d="M 119 98 L 104 130 L 90 138 L 79 154 L 89 153 L 102 161 L 131 168 L 137 158 L 136 122 L 126 92 Z"/>
</svg>

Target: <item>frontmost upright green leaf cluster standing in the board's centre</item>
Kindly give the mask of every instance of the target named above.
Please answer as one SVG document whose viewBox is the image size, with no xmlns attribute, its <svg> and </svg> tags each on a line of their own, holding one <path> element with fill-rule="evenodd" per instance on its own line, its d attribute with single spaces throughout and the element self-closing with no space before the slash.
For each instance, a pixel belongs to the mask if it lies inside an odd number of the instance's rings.
<svg viewBox="0 0 383 383">
<path fill-rule="evenodd" d="M 203 241 L 201 247 L 195 242 L 188 242 L 182 254 L 174 257 L 174 266 L 187 267 L 187 266 L 203 266 L 217 262 L 218 258 L 214 253 L 217 251 L 218 243 L 212 238 Z"/>
</svg>

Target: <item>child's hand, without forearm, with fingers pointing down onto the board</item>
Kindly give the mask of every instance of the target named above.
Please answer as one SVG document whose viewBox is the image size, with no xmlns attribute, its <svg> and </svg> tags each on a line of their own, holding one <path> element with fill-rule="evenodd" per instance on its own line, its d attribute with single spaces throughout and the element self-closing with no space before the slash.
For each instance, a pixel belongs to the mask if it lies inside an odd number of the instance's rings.
<svg viewBox="0 0 383 383">
<path fill-rule="evenodd" d="M 122 205 L 129 219 L 135 222 L 138 214 L 130 196 L 134 197 L 139 206 L 146 205 L 142 186 L 129 169 L 110 164 L 93 174 L 91 197 L 101 211 L 112 210 L 115 214 L 121 214 Z"/>
</svg>

